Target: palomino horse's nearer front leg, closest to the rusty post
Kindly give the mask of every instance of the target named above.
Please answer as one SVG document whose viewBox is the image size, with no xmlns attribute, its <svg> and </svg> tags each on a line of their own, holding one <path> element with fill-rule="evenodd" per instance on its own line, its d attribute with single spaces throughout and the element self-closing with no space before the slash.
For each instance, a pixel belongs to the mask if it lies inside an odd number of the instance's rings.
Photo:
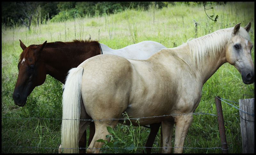
<svg viewBox="0 0 256 155">
<path fill-rule="evenodd" d="M 178 115 L 174 118 L 175 122 L 175 141 L 173 153 L 182 153 L 186 134 L 191 125 L 193 114 Z"/>
</svg>

